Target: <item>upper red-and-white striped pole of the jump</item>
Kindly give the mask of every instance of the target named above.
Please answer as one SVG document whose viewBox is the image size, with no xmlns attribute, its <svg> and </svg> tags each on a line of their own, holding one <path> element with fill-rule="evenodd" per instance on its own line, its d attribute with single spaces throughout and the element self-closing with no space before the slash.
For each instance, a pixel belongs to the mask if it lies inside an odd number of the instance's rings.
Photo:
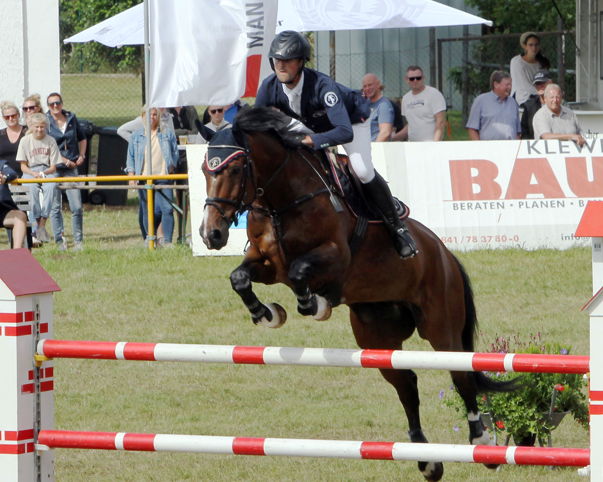
<svg viewBox="0 0 603 482">
<path fill-rule="evenodd" d="M 70 340 L 40 340 L 37 351 L 48 358 L 574 374 L 589 372 L 590 360 L 576 355 Z"/>
</svg>

